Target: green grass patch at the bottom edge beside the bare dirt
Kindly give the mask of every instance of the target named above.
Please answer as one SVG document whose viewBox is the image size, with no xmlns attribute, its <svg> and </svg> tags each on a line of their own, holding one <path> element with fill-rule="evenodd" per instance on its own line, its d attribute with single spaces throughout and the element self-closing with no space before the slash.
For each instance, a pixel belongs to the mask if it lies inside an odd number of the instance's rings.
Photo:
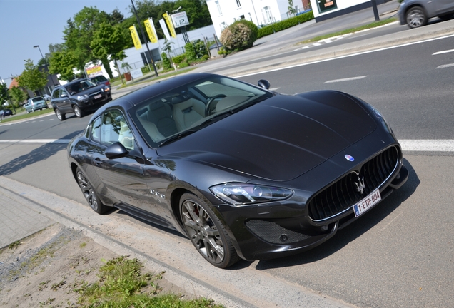
<svg viewBox="0 0 454 308">
<path fill-rule="evenodd" d="M 104 262 L 97 282 L 76 284 L 74 291 L 79 293 L 81 307 L 223 307 L 213 304 L 210 299 L 184 300 L 176 294 L 159 294 L 161 288 L 156 280 L 162 279 L 163 272 L 143 274 L 143 265 L 137 259 L 122 256 Z"/>
</svg>

